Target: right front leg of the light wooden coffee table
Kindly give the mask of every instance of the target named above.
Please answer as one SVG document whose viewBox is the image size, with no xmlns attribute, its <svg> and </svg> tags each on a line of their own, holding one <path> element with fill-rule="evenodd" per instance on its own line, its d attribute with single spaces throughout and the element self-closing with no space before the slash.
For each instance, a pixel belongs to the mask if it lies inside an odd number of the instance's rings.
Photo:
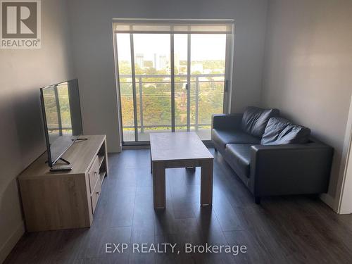
<svg viewBox="0 0 352 264">
<path fill-rule="evenodd" d="M 213 203 L 213 159 L 201 163 L 201 206 Z"/>
</svg>

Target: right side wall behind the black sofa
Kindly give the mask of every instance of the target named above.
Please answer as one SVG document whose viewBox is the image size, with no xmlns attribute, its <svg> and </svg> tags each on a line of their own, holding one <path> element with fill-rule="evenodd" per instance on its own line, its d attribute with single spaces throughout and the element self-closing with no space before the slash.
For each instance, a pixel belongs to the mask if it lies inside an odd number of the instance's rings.
<svg viewBox="0 0 352 264">
<path fill-rule="evenodd" d="M 329 201 L 343 171 L 352 92 L 352 1 L 270 0 L 263 106 L 277 107 L 335 149 Z M 346 147 L 345 147 L 346 149 Z M 330 204 L 334 206 L 333 204 Z"/>
</svg>

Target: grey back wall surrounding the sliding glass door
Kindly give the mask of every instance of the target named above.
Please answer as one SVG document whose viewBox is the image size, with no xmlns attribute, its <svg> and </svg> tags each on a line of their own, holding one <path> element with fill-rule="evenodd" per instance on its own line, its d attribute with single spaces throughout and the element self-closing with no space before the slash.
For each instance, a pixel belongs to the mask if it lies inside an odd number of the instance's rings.
<svg viewBox="0 0 352 264">
<path fill-rule="evenodd" d="M 260 101 L 266 0 L 70 0 L 75 70 L 86 134 L 107 134 L 120 151 L 113 60 L 113 18 L 227 18 L 235 20 L 232 111 Z"/>
</svg>

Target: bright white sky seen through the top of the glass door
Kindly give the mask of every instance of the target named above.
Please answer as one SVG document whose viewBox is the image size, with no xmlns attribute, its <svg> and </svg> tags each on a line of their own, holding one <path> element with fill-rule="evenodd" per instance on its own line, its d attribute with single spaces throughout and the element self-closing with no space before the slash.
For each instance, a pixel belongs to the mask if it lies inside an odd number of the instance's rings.
<svg viewBox="0 0 352 264">
<path fill-rule="evenodd" d="M 187 60 L 187 34 L 175 34 L 175 54 Z M 170 56 L 170 34 L 134 34 L 134 55 L 144 54 L 152 61 L 153 54 Z M 118 58 L 130 61 L 130 34 L 118 34 Z M 224 60 L 225 34 L 192 34 L 191 61 Z"/>
</svg>

